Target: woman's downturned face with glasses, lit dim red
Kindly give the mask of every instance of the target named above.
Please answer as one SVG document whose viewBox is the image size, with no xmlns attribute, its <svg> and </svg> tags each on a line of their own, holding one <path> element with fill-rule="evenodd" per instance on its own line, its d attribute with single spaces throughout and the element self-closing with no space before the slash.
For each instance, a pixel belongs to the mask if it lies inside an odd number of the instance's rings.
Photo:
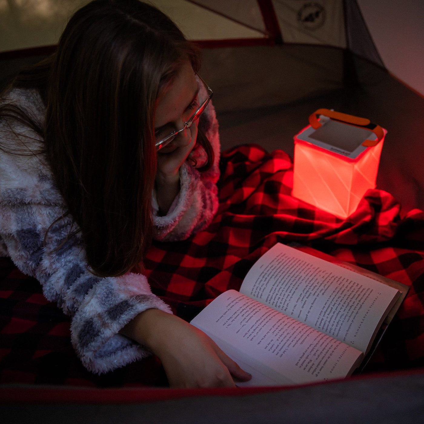
<svg viewBox="0 0 424 424">
<path fill-rule="evenodd" d="M 199 107 L 199 86 L 190 61 L 185 61 L 173 81 L 163 90 L 156 101 L 155 137 L 156 140 L 167 137 L 172 131 L 184 128 L 184 123 Z M 170 144 L 158 154 L 172 153 L 179 148 L 194 146 L 197 137 L 197 122 L 181 131 Z M 188 154 L 188 153 L 187 153 Z"/>
</svg>

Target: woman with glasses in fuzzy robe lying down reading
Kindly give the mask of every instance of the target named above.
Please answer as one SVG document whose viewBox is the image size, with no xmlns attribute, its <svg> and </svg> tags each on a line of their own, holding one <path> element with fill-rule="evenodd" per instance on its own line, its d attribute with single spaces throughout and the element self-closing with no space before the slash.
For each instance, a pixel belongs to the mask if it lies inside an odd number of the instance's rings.
<svg viewBox="0 0 424 424">
<path fill-rule="evenodd" d="M 3 253 L 73 316 L 95 373 L 153 352 L 171 387 L 250 379 L 130 272 L 152 237 L 187 238 L 218 206 L 218 124 L 198 66 L 156 8 L 96 0 L 1 96 Z"/>
</svg>

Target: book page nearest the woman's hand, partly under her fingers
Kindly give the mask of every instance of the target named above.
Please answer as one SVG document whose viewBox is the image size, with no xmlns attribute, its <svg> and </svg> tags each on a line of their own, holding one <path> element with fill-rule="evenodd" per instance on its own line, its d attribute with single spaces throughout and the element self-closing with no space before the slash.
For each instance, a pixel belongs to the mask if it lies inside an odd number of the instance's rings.
<svg viewBox="0 0 424 424">
<path fill-rule="evenodd" d="M 363 358 L 359 350 L 235 290 L 218 296 L 191 324 L 252 374 L 248 384 L 237 385 L 344 378 Z"/>
</svg>

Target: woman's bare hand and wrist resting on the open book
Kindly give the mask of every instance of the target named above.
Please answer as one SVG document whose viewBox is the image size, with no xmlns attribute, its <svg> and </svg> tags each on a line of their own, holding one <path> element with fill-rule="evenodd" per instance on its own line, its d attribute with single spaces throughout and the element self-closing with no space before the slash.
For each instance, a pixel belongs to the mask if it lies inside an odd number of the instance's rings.
<svg viewBox="0 0 424 424">
<path fill-rule="evenodd" d="M 132 331 L 139 340 L 133 338 L 159 357 L 170 387 L 235 387 L 232 377 L 251 379 L 209 336 L 181 318 L 159 309 L 148 309 L 136 318 Z"/>
</svg>

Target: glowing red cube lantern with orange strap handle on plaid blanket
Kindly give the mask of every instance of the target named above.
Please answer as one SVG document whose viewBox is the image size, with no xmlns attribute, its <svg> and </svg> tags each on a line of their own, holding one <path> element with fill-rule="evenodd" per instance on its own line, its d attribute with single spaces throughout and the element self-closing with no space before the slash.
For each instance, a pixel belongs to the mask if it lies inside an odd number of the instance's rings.
<svg viewBox="0 0 424 424">
<path fill-rule="evenodd" d="M 329 109 L 310 115 L 294 137 L 293 196 L 339 218 L 376 187 L 387 131 L 368 119 Z"/>
</svg>

